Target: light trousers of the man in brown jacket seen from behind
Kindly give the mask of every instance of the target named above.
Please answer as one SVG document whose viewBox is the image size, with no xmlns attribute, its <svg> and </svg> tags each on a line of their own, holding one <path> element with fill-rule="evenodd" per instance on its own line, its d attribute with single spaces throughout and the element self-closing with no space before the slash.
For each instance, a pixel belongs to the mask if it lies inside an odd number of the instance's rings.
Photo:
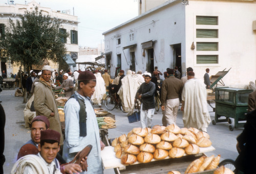
<svg viewBox="0 0 256 174">
<path fill-rule="evenodd" d="M 165 102 L 162 123 L 164 126 L 176 124 L 177 113 L 180 105 L 179 98 L 169 99 Z"/>
</svg>

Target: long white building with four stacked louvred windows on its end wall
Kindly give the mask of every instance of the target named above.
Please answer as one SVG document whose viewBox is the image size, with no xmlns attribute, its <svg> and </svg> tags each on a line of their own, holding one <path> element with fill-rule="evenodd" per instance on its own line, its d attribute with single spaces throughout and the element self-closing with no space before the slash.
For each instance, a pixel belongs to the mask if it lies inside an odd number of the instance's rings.
<svg viewBox="0 0 256 174">
<path fill-rule="evenodd" d="M 182 76 L 192 67 L 197 78 L 203 78 L 206 68 L 210 75 L 231 68 L 222 79 L 226 85 L 243 88 L 255 81 L 256 1 L 183 4 L 164 2 L 104 32 L 111 75 L 120 66 L 151 73 L 155 66 L 162 73 L 177 66 Z"/>
</svg>

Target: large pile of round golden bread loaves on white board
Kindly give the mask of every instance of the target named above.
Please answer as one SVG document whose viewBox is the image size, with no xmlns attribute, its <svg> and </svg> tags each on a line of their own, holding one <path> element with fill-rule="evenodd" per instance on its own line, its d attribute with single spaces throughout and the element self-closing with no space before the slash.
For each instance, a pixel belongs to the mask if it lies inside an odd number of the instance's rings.
<svg viewBox="0 0 256 174">
<path fill-rule="evenodd" d="M 136 161 L 148 163 L 156 160 L 180 158 L 185 154 L 198 154 L 199 147 L 211 146 L 209 135 L 196 128 L 179 128 L 176 124 L 156 125 L 151 128 L 133 128 L 131 132 L 121 135 L 112 142 L 116 157 L 122 164 Z"/>
</svg>

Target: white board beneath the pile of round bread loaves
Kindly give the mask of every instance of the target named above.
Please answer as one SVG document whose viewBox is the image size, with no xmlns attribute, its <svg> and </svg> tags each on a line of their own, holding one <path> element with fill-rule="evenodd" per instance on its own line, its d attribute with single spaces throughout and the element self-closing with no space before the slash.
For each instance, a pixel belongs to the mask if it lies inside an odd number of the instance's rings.
<svg viewBox="0 0 256 174">
<path fill-rule="evenodd" d="M 200 147 L 200 151 L 199 154 L 202 153 L 206 153 L 208 151 L 214 151 L 215 148 L 213 146 L 210 147 Z M 187 156 L 186 154 L 184 156 Z M 169 159 L 170 157 L 166 157 L 165 159 Z M 116 153 L 114 151 L 114 147 L 112 146 L 106 146 L 102 151 L 101 151 L 101 159 L 102 159 L 102 163 L 105 169 L 110 169 L 110 168 L 125 168 L 125 166 L 128 165 L 123 165 L 121 164 L 121 160 L 116 158 Z M 154 161 L 162 161 L 162 160 L 156 160 L 153 159 L 151 162 Z M 150 162 L 150 163 L 151 163 Z M 139 162 L 136 162 L 134 164 L 131 165 L 136 165 L 136 164 L 140 164 Z M 147 163 L 148 165 L 149 163 Z"/>
</svg>

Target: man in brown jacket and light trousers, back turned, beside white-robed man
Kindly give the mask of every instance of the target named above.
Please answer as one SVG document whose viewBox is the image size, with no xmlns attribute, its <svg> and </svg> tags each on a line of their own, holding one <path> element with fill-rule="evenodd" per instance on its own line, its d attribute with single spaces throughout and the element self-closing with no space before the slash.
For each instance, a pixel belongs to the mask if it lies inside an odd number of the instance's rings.
<svg viewBox="0 0 256 174">
<path fill-rule="evenodd" d="M 175 78 L 174 70 L 167 70 L 167 78 L 163 81 L 161 89 L 161 103 L 164 126 L 169 124 L 176 124 L 178 108 L 180 105 L 179 95 L 181 95 L 183 88 L 182 81 Z"/>
</svg>

